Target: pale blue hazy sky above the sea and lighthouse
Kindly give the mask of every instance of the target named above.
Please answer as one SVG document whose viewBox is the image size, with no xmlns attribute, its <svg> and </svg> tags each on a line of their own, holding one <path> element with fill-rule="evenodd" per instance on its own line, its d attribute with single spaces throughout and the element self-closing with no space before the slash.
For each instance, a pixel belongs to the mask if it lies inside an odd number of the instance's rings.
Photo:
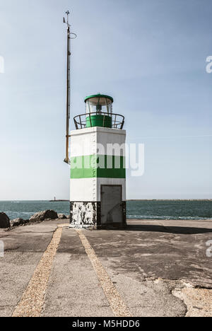
<svg viewBox="0 0 212 331">
<path fill-rule="evenodd" d="M 145 144 L 127 198 L 212 198 L 211 0 L 0 0 L 0 200 L 69 199 L 68 8 L 71 117 L 86 95 L 112 95 L 128 141 Z"/>
</svg>

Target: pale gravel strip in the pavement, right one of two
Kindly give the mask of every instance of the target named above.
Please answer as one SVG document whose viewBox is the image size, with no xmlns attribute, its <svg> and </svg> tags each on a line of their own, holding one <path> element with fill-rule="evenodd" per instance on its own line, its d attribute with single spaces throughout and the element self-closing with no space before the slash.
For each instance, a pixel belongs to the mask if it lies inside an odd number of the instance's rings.
<svg viewBox="0 0 212 331">
<path fill-rule="evenodd" d="M 95 255 L 95 251 L 91 247 L 88 239 L 86 238 L 86 236 L 83 235 L 83 232 L 81 230 L 76 230 L 76 232 L 78 233 L 78 236 L 81 239 L 81 242 L 86 250 L 90 262 L 92 263 L 93 268 L 98 275 L 98 279 L 100 281 L 103 291 L 105 292 L 107 301 L 110 303 L 110 307 L 112 308 L 114 316 L 132 317 L 129 308 L 126 307 L 126 304 L 124 303 L 119 292 L 112 283 L 112 280 L 105 271 L 105 268 L 102 266 L 100 260 L 98 260 L 98 257 Z"/>
</svg>

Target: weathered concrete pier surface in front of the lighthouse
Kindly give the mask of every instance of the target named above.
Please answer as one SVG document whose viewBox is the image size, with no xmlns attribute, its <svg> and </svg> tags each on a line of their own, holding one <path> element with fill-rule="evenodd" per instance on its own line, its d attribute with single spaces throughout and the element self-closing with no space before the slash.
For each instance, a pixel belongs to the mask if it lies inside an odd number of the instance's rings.
<svg viewBox="0 0 212 331">
<path fill-rule="evenodd" d="M 39 302 L 43 316 L 112 317 L 117 311 L 136 317 L 212 316 L 212 257 L 206 255 L 206 243 L 212 240 L 210 220 L 130 220 L 124 230 L 81 230 L 93 257 L 78 231 L 65 222 Z M 0 230 L 5 247 L 0 257 L 0 316 L 13 315 L 63 223 Z M 107 286 L 114 286 L 122 303 L 119 310 L 111 305 Z"/>
</svg>

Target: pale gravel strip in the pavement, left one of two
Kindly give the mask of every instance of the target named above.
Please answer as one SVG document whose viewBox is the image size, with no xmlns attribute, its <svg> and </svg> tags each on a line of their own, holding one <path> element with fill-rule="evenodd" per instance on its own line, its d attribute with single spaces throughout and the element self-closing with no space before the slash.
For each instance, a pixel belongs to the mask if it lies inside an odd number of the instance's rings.
<svg viewBox="0 0 212 331">
<path fill-rule="evenodd" d="M 40 317 L 45 303 L 45 291 L 49 281 L 54 256 L 61 239 L 62 228 L 66 224 L 59 225 L 54 232 L 51 243 L 45 250 L 33 277 L 30 279 L 27 289 L 23 293 L 18 306 L 13 313 L 13 317 Z"/>
</svg>

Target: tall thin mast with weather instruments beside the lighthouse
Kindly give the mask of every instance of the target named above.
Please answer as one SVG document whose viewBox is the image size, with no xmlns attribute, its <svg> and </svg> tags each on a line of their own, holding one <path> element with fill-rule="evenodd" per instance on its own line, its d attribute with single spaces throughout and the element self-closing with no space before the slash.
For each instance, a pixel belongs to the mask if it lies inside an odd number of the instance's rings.
<svg viewBox="0 0 212 331">
<path fill-rule="evenodd" d="M 71 33 L 71 25 L 69 24 L 69 11 L 66 11 L 67 19 L 64 18 L 64 23 L 67 25 L 67 76 L 66 76 L 66 158 L 65 163 L 70 164 L 69 160 L 69 122 L 71 117 L 71 39 L 76 39 L 76 34 Z"/>
</svg>

